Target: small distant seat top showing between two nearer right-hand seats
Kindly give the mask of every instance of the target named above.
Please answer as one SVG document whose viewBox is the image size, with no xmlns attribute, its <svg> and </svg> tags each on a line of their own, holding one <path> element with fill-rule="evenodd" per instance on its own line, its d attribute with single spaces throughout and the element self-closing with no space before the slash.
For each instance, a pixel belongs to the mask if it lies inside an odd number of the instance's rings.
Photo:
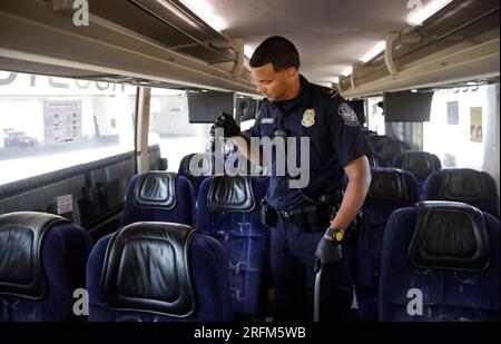
<svg viewBox="0 0 501 344">
<path fill-rule="evenodd" d="M 399 153 L 393 158 L 393 167 L 409 170 L 414 174 L 420 183 L 420 191 L 424 180 L 442 167 L 440 159 L 434 154 L 428 151 L 406 150 Z"/>
</svg>

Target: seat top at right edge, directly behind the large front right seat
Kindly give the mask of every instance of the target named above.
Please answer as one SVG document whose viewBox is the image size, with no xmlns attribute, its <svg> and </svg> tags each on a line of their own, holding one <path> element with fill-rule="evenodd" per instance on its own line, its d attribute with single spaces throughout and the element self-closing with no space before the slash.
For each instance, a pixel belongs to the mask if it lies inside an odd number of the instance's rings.
<svg viewBox="0 0 501 344">
<path fill-rule="evenodd" d="M 428 177 L 425 200 L 462 202 L 499 219 L 499 195 L 495 180 L 484 171 L 466 168 L 444 168 Z"/>
</svg>

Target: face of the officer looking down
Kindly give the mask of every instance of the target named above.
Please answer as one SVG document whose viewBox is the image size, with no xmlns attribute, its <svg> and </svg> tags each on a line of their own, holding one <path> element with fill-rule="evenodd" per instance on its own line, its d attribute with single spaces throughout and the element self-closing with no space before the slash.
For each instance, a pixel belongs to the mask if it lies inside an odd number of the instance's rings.
<svg viewBox="0 0 501 344">
<path fill-rule="evenodd" d="M 257 82 L 257 91 L 271 101 L 288 100 L 295 98 L 294 82 L 297 80 L 297 70 L 294 67 L 275 71 L 272 63 L 250 68 L 253 79 Z"/>
</svg>

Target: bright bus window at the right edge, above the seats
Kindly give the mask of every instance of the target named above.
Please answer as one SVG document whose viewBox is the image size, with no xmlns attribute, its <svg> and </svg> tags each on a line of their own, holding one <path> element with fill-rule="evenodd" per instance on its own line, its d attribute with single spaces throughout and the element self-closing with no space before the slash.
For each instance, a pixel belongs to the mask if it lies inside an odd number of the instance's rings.
<svg viewBox="0 0 501 344">
<path fill-rule="evenodd" d="M 435 91 L 423 130 L 424 150 L 438 155 L 443 167 L 488 171 L 499 189 L 499 85 Z"/>
</svg>

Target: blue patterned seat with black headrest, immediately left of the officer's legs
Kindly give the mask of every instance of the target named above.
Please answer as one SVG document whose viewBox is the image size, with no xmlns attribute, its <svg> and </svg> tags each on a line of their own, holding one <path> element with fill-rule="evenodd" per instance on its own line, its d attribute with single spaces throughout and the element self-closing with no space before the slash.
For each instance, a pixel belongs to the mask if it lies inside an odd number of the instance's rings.
<svg viewBox="0 0 501 344">
<path fill-rule="evenodd" d="M 263 178 L 216 176 L 198 194 L 199 230 L 222 243 L 229 269 L 236 320 L 264 316 L 268 284 L 268 233 L 261 223 Z"/>
</svg>

